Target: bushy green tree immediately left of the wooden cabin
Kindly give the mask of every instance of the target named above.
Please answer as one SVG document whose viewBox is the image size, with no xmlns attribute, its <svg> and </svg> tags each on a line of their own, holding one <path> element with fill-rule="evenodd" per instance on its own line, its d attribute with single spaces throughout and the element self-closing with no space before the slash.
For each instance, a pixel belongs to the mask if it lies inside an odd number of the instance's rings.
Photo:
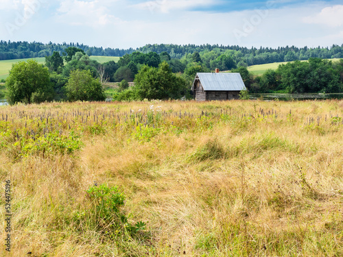
<svg viewBox="0 0 343 257">
<path fill-rule="evenodd" d="M 134 79 L 137 97 L 147 99 L 178 99 L 185 95 L 187 83 L 171 72 L 167 62 L 158 68 L 143 66 Z"/>
</svg>

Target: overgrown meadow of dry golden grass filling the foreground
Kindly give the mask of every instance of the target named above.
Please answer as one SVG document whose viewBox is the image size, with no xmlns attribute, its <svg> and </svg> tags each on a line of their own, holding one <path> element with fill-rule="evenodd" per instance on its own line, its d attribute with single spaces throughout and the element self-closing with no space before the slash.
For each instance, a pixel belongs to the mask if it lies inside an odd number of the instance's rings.
<svg viewBox="0 0 343 257">
<path fill-rule="evenodd" d="M 1 106 L 1 256 L 342 256 L 342 117 L 337 100 Z"/>
</svg>

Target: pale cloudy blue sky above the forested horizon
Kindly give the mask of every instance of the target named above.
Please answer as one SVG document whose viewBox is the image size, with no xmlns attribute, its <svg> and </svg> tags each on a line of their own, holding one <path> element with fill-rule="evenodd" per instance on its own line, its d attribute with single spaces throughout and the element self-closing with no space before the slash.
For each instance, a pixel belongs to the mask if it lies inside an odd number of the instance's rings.
<svg viewBox="0 0 343 257">
<path fill-rule="evenodd" d="M 0 40 L 113 48 L 343 44 L 342 0 L 0 0 Z"/>
</svg>

